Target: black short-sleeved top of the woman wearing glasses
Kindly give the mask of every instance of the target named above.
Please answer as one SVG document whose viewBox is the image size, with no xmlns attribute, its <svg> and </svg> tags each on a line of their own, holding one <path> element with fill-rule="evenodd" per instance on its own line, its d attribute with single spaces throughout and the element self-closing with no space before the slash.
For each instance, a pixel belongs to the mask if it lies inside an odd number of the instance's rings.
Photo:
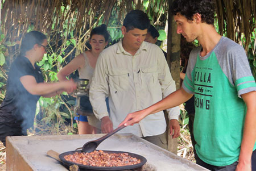
<svg viewBox="0 0 256 171">
<path fill-rule="evenodd" d="M 0 124 L 19 123 L 23 130 L 33 126 L 36 103 L 40 95 L 32 95 L 23 87 L 19 78 L 33 76 L 36 82 L 43 82 L 43 74 L 38 65 L 34 65 L 24 56 L 18 56 L 9 72 L 6 96 L 0 106 Z"/>
</svg>

